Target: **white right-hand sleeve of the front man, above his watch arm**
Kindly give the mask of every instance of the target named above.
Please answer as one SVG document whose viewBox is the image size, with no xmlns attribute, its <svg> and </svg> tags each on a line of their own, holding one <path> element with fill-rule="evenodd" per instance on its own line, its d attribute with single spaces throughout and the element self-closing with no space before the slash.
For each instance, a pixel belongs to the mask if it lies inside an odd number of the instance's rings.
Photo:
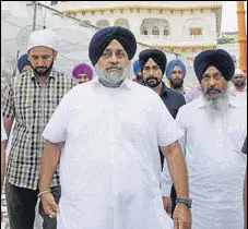
<svg viewBox="0 0 248 229">
<path fill-rule="evenodd" d="M 179 140 L 184 133 L 160 98 L 157 112 L 157 144 L 167 146 Z"/>
</svg>

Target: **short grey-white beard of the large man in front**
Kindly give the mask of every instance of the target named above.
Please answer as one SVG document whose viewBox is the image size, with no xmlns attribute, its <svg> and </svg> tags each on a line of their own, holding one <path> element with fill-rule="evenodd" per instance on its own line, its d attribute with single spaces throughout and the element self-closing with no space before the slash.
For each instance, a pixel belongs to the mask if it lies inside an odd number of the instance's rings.
<svg viewBox="0 0 248 229">
<path fill-rule="evenodd" d="M 106 87 L 119 87 L 120 84 L 130 77 L 131 63 L 121 70 L 115 72 L 107 72 L 106 69 L 102 69 L 98 64 L 95 65 L 95 72 L 98 75 L 99 82 Z"/>
</svg>

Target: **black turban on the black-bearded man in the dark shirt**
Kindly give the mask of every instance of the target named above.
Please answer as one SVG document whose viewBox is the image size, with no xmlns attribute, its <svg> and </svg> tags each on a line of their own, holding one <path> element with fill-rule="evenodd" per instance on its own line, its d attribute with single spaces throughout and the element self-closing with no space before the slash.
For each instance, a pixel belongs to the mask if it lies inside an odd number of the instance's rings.
<svg viewBox="0 0 248 229">
<path fill-rule="evenodd" d="M 150 58 L 153 59 L 154 62 L 156 62 L 156 64 L 161 68 L 161 71 L 164 75 L 165 67 L 167 63 L 167 58 L 165 53 L 158 49 L 146 49 L 141 51 L 139 55 L 141 70 L 143 70 L 144 64 L 149 61 Z"/>
</svg>

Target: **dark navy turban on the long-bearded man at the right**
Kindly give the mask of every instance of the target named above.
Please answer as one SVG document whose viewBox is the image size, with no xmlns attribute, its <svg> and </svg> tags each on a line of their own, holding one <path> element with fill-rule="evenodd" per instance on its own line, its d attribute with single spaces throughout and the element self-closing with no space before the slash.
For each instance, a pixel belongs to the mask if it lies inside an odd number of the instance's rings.
<svg viewBox="0 0 248 229">
<path fill-rule="evenodd" d="M 199 53 L 193 61 L 194 72 L 200 83 L 203 73 L 211 65 L 215 67 L 226 81 L 234 75 L 234 61 L 228 52 L 223 49 L 205 50 Z"/>
</svg>

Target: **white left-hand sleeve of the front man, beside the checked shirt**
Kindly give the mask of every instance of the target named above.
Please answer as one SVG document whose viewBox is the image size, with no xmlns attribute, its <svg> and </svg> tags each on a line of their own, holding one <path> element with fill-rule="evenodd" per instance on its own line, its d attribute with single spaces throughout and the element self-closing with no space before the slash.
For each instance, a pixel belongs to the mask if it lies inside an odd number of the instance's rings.
<svg viewBox="0 0 248 229">
<path fill-rule="evenodd" d="M 67 122 L 69 116 L 69 95 L 64 95 L 47 123 L 43 137 L 51 143 L 64 142 L 67 138 Z"/>
</svg>

